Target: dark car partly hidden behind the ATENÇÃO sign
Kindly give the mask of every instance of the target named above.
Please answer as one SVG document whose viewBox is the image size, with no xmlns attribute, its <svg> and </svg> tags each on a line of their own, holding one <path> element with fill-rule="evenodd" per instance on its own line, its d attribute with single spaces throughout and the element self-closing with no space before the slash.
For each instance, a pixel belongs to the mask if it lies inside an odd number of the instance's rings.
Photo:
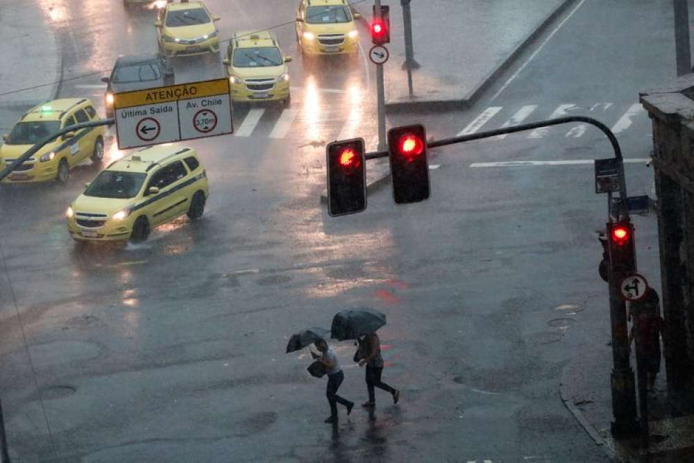
<svg viewBox="0 0 694 463">
<path fill-rule="evenodd" d="M 163 87 L 174 83 L 174 71 L 167 69 L 167 61 L 161 55 L 119 56 L 109 77 L 103 95 L 106 117 L 113 117 L 113 94 Z"/>
</svg>

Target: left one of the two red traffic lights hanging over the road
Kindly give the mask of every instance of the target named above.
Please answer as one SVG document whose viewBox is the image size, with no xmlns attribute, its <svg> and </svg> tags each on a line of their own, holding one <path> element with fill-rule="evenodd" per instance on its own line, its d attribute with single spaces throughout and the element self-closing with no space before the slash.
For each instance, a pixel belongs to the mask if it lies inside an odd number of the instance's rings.
<svg viewBox="0 0 694 463">
<path fill-rule="evenodd" d="M 366 209 L 364 139 L 328 144 L 328 214 L 356 214 Z"/>
</svg>

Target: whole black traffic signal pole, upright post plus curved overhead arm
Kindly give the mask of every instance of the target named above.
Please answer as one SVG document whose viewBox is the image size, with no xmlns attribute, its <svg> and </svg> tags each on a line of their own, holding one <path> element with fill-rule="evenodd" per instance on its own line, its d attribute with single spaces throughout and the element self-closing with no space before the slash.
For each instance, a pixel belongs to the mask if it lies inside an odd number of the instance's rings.
<svg viewBox="0 0 694 463">
<path fill-rule="evenodd" d="M 627 224 L 630 227 L 629 208 L 627 205 L 627 185 L 624 176 L 624 164 L 622 151 L 614 133 L 602 122 L 591 117 L 584 116 L 569 116 L 559 117 L 545 121 L 534 122 L 531 124 L 520 124 L 505 128 L 498 128 L 493 131 L 485 131 L 479 133 L 471 133 L 461 135 L 459 137 L 451 137 L 443 140 L 434 140 L 427 143 L 428 148 L 437 148 L 439 146 L 448 146 L 457 143 L 471 142 L 473 140 L 482 140 L 483 138 L 496 137 L 496 135 L 504 135 L 507 133 L 516 133 L 530 131 L 536 128 L 556 126 L 559 124 L 568 124 L 571 122 L 583 122 L 591 124 L 598 128 L 602 133 L 607 135 L 607 138 L 612 145 L 614 157 L 618 161 L 618 180 L 620 183 L 619 195 L 620 203 L 616 209 L 616 220 L 622 224 Z M 385 158 L 389 155 L 389 151 L 379 150 L 378 152 L 366 153 L 365 158 L 378 159 Z M 611 201 L 611 196 L 609 201 Z M 609 221 L 611 217 L 611 203 L 608 205 Z M 629 228 L 631 229 L 631 228 Z M 608 237 L 610 239 L 610 237 Z M 636 267 L 634 265 L 634 271 Z M 611 392 L 612 392 L 612 414 L 614 421 L 612 422 L 612 435 L 618 439 L 636 435 L 639 430 L 638 419 L 636 415 L 636 394 L 635 394 L 635 379 L 634 370 L 629 365 L 629 335 L 627 330 L 627 308 L 626 303 L 620 296 L 620 283 L 624 276 L 622 269 L 616 269 L 614 262 L 609 265 L 609 310 L 610 322 L 612 328 L 612 360 L 613 368 L 611 371 Z M 642 413 L 645 410 L 642 410 Z"/>
</svg>

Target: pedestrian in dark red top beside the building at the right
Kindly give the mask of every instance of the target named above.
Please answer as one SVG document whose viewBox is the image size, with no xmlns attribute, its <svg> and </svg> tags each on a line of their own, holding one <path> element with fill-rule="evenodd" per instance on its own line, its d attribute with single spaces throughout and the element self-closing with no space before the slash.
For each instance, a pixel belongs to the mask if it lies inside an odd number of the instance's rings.
<svg viewBox="0 0 694 463">
<path fill-rule="evenodd" d="M 660 371 L 660 337 L 664 321 L 660 316 L 658 293 L 648 288 L 643 300 L 631 303 L 632 330 L 629 346 L 636 339 L 636 360 L 641 361 L 646 373 L 646 387 L 653 391 Z"/>
</svg>

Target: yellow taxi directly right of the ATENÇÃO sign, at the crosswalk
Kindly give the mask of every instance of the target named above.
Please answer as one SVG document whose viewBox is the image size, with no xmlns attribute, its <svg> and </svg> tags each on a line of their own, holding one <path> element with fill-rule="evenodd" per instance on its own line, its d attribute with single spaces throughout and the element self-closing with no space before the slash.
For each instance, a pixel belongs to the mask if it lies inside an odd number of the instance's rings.
<svg viewBox="0 0 694 463">
<path fill-rule="evenodd" d="M 239 32 L 229 41 L 223 60 L 233 101 L 278 101 L 289 106 L 290 56 L 269 31 Z"/>
</svg>

